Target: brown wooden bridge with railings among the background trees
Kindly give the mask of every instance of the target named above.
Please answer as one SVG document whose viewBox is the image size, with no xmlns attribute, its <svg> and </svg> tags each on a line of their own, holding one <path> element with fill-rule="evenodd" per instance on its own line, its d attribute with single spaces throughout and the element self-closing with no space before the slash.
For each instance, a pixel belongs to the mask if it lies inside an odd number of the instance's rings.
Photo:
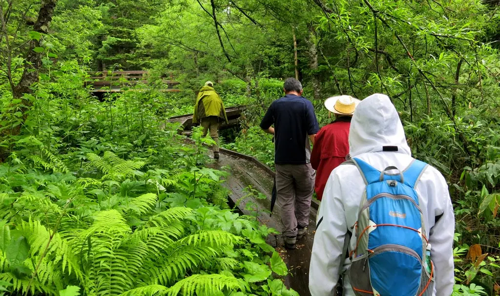
<svg viewBox="0 0 500 296">
<path fill-rule="evenodd" d="M 90 77 L 84 82 L 84 86 L 92 86 L 90 92 L 97 94 L 100 92 L 120 92 L 139 83 L 148 83 L 149 71 L 102 71 L 89 72 Z M 167 85 L 162 91 L 180 91 L 175 88 L 179 82 L 174 80 L 173 72 L 162 75 L 162 81 Z"/>
</svg>

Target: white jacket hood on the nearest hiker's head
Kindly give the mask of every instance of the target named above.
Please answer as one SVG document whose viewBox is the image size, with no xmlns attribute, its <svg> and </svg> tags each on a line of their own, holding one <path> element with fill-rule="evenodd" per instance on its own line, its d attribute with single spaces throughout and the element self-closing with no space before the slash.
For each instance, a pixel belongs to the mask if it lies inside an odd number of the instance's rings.
<svg viewBox="0 0 500 296">
<path fill-rule="evenodd" d="M 396 108 L 385 94 L 375 93 L 356 107 L 349 129 L 349 155 L 387 151 L 411 155 Z"/>
</svg>

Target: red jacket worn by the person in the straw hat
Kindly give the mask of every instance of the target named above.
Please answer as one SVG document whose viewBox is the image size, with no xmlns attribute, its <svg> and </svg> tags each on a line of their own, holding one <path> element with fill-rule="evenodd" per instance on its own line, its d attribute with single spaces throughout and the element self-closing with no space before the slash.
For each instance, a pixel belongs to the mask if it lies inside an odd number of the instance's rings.
<svg viewBox="0 0 500 296">
<path fill-rule="evenodd" d="M 338 117 L 318 131 L 311 152 L 311 165 L 316 170 L 314 190 L 317 199 L 323 197 L 324 186 L 333 168 L 345 161 L 349 153 L 349 127 L 351 117 Z"/>
</svg>

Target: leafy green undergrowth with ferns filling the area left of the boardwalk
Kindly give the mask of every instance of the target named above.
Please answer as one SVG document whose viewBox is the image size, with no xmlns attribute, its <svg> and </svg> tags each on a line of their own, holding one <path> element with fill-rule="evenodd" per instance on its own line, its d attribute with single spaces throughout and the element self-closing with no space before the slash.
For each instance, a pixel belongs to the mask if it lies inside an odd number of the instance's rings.
<svg viewBox="0 0 500 296">
<path fill-rule="evenodd" d="M 265 242 L 276 230 L 228 207 L 209 139 L 187 144 L 164 121 L 168 97 L 97 101 L 64 66 L 36 85 L 26 118 L 1 122 L 22 128 L 0 143 L 0 294 L 298 295 Z"/>
</svg>

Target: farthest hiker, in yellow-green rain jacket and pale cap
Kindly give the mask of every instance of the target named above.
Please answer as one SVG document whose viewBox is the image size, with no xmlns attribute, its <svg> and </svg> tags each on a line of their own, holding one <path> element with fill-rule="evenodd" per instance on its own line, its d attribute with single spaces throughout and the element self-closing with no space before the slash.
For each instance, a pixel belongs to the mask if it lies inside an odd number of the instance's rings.
<svg viewBox="0 0 500 296">
<path fill-rule="evenodd" d="M 227 123 L 227 116 L 225 114 L 224 104 L 218 93 L 213 89 L 213 83 L 206 81 L 205 85 L 201 87 L 194 104 L 194 114 L 192 122 L 201 122 L 203 126 L 203 136 L 206 135 L 210 129 L 210 136 L 216 144 L 213 145 L 213 158 L 218 159 L 219 155 L 219 140 L 218 140 L 218 122 L 219 118 L 224 119 Z"/>
</svg>

